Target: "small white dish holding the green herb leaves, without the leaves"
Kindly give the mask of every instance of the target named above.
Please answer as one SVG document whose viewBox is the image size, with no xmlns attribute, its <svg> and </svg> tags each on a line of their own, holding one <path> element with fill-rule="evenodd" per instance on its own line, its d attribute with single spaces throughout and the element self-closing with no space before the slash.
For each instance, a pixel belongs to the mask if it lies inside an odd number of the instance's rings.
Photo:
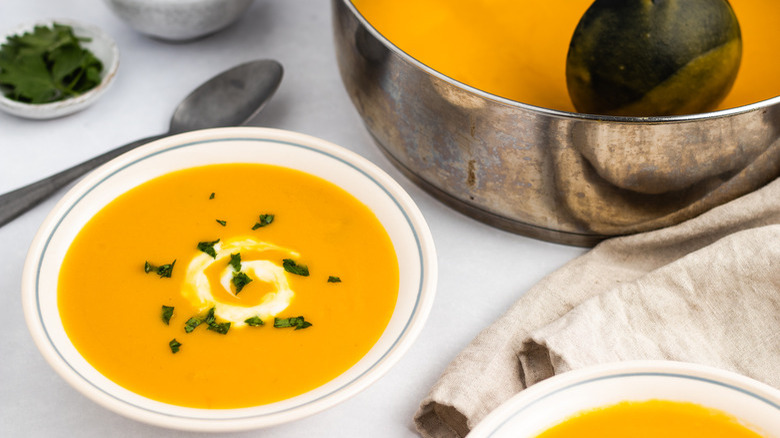
<svg viewBox="0 0 780 438">
<path fill-rule="evenodd" d="M 53 119 L 66 116 L 95 103 L 114 82 L 119 69 L 119 49 L 113 38 L 96 26 L 68 19 L 42 20 L 13 29 L 0 39 L 0 44 L 5 43 L 9 36 L 32 31 L 35 26 L 51 26 L 52 23 L 66 24 L 73 28 L 73 33 L 76 36 L 90 38 L 90 41 L 83 42 L 82 46 L 90 50 L 103 63 L 100 84 L 79 96 L 43 104 L 18 102 L 0 93 L 0 109 L 3 111 L 28 119 Z"/>
</svg>

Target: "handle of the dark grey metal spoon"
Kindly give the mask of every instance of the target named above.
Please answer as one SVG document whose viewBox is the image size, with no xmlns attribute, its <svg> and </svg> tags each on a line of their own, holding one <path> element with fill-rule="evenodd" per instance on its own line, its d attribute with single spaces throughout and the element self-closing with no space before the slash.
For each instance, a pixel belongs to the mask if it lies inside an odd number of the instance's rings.
<svg viewBox="0 0 780 438">
<path fill-rule="evenodd" d="M 98 155 L 95 158 L 91 158 L 81 164 L 77 164 L 69 169 L 65 169 L 62 172 L 44 178 L 38 182 L 34 182 L 27 186 L 8 192 L 4 195 L 0 195 L 0 227 L 7 224 L 8 222 L 11 222 L 25 211 L 38 205 L 41 201 L 56 193 L 66 184 L 72 182 L 90 170 L 107 163 L 113 158 L 116 158 L 127 151 L 135 149 L 142 144 L 149 143 L 150 141 L 165 137 L 166 135 L 167 134 L 161 134 L 147 137 L 141 140 L 136 140 L 124 146 L 112 149 L 102 155 Z"/>
</svg>

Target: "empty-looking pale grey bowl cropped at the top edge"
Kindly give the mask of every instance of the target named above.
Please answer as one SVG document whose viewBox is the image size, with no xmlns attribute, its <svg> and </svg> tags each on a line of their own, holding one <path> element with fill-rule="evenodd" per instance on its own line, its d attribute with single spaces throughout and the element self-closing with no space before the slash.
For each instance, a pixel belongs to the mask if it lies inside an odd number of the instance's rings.
<svg viewBox="0 0 780 438">
<path fill-rule="evenodd" d="M 253 0 L 105 0 L 136 31 L 187 41 L 212 34 L 238 20 Z"/>
</svg>

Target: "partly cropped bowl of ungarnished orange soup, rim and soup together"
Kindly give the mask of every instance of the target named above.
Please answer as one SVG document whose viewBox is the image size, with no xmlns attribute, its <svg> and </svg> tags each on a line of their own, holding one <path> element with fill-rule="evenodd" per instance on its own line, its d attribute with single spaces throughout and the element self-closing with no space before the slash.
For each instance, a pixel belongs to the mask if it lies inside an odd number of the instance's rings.
<svg viewBox="0 0 780 438">
<path fill-rule="evenodd" d="M 780 437 L 780 390 L 734 372 L 628 361 L 537 383 L 488 414 L 469 438 Z"/>
</svg>

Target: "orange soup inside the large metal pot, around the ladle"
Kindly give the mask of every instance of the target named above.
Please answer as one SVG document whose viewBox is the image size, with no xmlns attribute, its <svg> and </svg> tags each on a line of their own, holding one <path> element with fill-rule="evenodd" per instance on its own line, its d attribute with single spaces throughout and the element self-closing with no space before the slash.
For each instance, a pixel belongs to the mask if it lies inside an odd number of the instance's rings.
<svg viewBox="0 0 780 438">
<path fill-rule="evenodd" d="M 518 102 L 575 111 L 569 41 L 593 0 L 352 0 L 383 36 L 434 70 Z M 742 62 L 719 109 L 780 95 L 780 2 L 730 0 Z"/>
</svg>

